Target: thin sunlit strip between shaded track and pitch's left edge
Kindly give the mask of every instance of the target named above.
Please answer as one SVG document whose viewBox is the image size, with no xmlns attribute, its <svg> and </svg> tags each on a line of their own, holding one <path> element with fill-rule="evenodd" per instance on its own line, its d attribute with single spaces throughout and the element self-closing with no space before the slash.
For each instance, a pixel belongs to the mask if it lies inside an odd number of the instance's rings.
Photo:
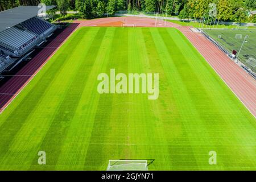
<svg viewBox="0 0 256 182">
<path fill-rule="evenodd" d="M 52 58 L 52 56 L 55 55 L 55 53 L 63 46 L 63 44 L 64 44 L 65 42 L 67 42 L 67 40 L 69 39 L 69 37 L 72 36 L 73 33 L 76 32 L 76 30 L 77 30 L 78 28 L 80 28 L 80 27 L 77 26 L 77 27 L 75 28 L 75 30 L 73 30 L 73 31 L 71 32 L 71 34 L 68 35 L 68 37 L 63 41 L 63 43 L 61 43 L 60 46 L 57 47 L 57 49 L 52 53 L 52 55 L 49 56 L 46 61 L 44 61 L 44 63 L 41 65 L 41 67 L 40 67 L 38 70 L 36 70 L 36 72 L 30 77 L 30 79 L 29 79 L 24 85 L 22 85 L 22 88 L 20 88 L 20 89 L 18 90 L 18 93 L 15 93 L 15 94 L 14 94 L 14 97 L 11 98 L 10 102 L 9 102 L 6 106 L 3 107 L 2 111 L 0 111 L 0 114 L 3 113 L 3 111 L 11 104 L 11 102 L 13 102 L 13 100 L 15 100 L 15 98 L 18 96 L 18 94 L 19 94 L 20 92 L 22 92 L 22 90 L 28 85 L 28 83 L 36 76 L 36 74 L 44 67 L 44 65 L 46 65 L 46 64 L 48 63 L 48 61 Z M 43 50 L 42 50 L 42 51 L 43 51 Z"/>
</svg>

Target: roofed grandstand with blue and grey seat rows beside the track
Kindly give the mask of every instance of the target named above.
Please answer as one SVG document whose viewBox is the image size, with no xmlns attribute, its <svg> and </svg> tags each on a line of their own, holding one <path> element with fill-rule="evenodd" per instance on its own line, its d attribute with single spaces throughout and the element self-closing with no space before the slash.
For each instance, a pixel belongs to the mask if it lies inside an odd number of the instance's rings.
<svg viewBox="0 0 256 182">
<path fill-rule="evenodd" d="M 46 10 L 55 6 L 46 6 Z M 19 6 L 0 12 L 0 73 L 24 59 L 46 41 L 56 26 L 40 18 L 38 6 Z"/>
</svg>

